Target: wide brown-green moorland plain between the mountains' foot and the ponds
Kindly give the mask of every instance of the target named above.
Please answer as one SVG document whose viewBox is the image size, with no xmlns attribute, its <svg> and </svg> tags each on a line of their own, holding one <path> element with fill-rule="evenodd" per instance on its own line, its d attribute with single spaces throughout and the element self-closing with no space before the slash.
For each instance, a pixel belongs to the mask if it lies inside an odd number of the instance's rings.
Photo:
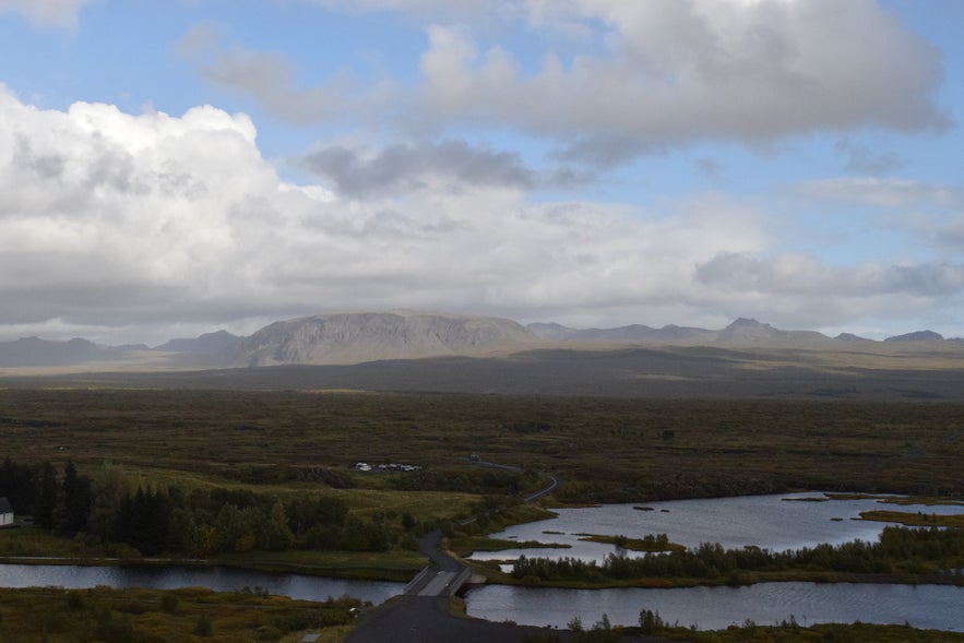
<svg viewBox="0 0 964 643">
<path fill-rule="evenodd" d="M 557 498 L 570 502 L 790 488 L 961 496 L 962 417 L 964 404 L 941 402 L 0 391 L 4 455 L 17 462 L 109 461 L 165 484 L 323 491 L 356 511 L 453 517 L 472 503 L 460 492 L 486 491 L 473 453 L 559 474 Z M 424 468 L 349 471 L 359 461 Z"/>
</svg>

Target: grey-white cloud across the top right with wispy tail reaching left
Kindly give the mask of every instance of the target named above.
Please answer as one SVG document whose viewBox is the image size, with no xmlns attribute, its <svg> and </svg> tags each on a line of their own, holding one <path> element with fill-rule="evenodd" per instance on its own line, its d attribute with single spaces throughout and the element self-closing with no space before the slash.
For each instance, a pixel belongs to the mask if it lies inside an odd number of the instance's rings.
<svg viewBox="0 0 964 643">
<path fill-rule="evenodd" d="M 818 132 L 948 127 L 935 104 L 940 52 L 871 0 L 317 3 L 426 21 L 420 76 L 364 85 L 343 68 L 301 86 L 283 55 L 225 48 L 205 25 L 176 49 L 212 84 L 289 122 L 524 132 L 549 141 L 560 160 L 603 168 L 706 141 L 765 146 Z M 478 26 L 484 16 L 502 27 Z M 498 41 L 520 27 L 543 47 L 535 68 L 531 51 Z M 894 163 L 844 152 L 853 167 Z"/>
</svg>

